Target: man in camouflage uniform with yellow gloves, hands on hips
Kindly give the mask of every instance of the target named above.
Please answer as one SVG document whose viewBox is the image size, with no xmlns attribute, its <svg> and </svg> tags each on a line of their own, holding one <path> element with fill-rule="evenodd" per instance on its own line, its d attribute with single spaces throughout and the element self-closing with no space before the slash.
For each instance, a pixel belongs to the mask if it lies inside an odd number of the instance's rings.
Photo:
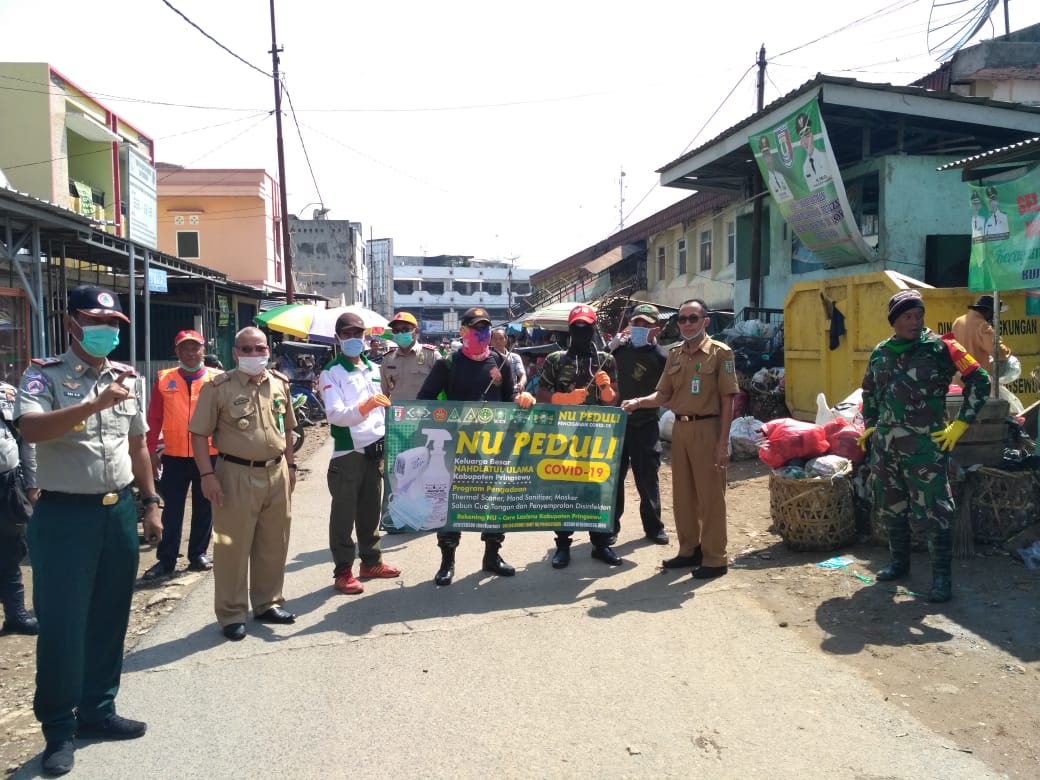
<svg viewBox="0 0 1040 780">
<path fill-rule="evenodd" d="M 948 601 L 953 591 L 954 496 L 950 450 L 989 395 L 989 375 L 953 338 L 925 327 L 917 290 L 900 290 L 888 302 L 891 338 L 878 344 L 863 375 L 860 446 L 870 448 L 874 506 L 888 531 L 891 562 L 879 580 L 910 573 L 911 525 L 926 531 L 932 560 L 929 600 Z M 944 424 L 946 391 L 954 374 L 964 381 L 957 419 Z"/>
</svg>

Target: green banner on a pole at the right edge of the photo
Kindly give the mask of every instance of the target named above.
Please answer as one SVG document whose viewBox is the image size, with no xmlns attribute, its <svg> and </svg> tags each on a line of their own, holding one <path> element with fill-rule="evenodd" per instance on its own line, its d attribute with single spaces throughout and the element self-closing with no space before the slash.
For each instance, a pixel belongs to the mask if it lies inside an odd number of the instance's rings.
<svg viewBox="0 0 1040 780">
<path fill-rule="evenodd" d="M 969 184 L 968 289 L 1026 290 L 1040 285 L 1040 166 L 998 184 Z M 1031 314 L 1026 298 L 1026 314 Z"/>
</svg>

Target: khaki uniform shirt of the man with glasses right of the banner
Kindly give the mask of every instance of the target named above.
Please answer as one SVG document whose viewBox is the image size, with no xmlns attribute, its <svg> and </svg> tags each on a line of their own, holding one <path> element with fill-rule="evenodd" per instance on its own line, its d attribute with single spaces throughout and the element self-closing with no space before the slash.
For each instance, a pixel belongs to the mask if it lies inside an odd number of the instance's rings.
<svg viewBox="0 0 1040 780">
<path fill-rule="evenodd" d="M 721 414 L 722 397 L 740 391 L 736 384 L 733 350 L 707 337 L 696 349 L 685 344 L 673 346 L 657 389 L 672 393 L 668 407 L 677 415 Z"/>
</svg>

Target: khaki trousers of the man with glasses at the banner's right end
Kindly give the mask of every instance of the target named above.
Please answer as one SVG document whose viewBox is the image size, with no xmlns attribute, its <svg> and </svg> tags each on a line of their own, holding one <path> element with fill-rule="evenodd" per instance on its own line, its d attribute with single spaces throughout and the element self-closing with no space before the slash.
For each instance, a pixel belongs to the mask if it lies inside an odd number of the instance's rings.
<svg viewBox="0 0 1040 780">
<path fill-rule="evenodd" d="M 672 513 L 679 554 L 698 545 L 704 566 L 726 566 L 726 470 L 714 467 L 720 420 L 676 420 L 672 427 Z"/>
</svg>

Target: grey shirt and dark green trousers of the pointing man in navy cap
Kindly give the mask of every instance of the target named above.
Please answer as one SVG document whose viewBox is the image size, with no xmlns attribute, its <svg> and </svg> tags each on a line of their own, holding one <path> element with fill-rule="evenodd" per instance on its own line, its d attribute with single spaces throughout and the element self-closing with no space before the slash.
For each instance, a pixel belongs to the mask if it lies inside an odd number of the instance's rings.
<svg viewBox="0 0 1040 780">
<path fill-rule="evenodd" d="M 33 360 L 15 416 L 78 406 L 131 368 L 106 360 L 96 371 L 72 349 Z M 36 443 L 41 494 L 28 524 L 40 620 L 33 711 L 48 743 L 72 739 L 77 714 L 93 724 L 115 713 L 139 557 L 129 438 L 148 430 L 134 382 L 125 400 Z"/>
</svg>

